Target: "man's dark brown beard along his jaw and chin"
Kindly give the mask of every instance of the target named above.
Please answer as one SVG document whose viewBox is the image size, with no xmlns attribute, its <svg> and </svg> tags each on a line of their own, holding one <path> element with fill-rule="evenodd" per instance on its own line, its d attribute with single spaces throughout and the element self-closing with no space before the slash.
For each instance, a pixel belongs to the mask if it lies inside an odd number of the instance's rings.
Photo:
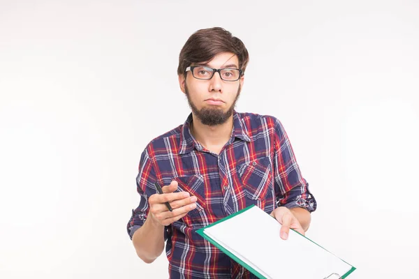
<svg viewBox="0 0 419 279">
<path fill-rule="evenodd" d="M 191 96 L 189 96 L 188 86 L 186 86 L 185 84 L 185 93 L 186 93 L 186 98 L 188 98 L 189 107 L 191 107 L 193 114 L 195 114 L 196 117 L 198 117 L 201 123 L 208 126 L 216 126 L 216 125 L 226 123 L 228 118 L 230 118 L 230 116 L 233 115 L 233 110 L 235 108 L 237 100 L 239 99 L 241 89 L 242 88 L 240 84 L 239 89 L 237 90 L 237 96 L 235 100 L 233 101 L 233 104 L 231 104 L 231 106 L 228 108 L 226 112 L 223 112 L 223 109 L 221 108 L 210 108 L 210 107 L 203 107 L 202 109 L 198 110 L 198 107 L 193 105 L 191 101 Z"/>
</svg>

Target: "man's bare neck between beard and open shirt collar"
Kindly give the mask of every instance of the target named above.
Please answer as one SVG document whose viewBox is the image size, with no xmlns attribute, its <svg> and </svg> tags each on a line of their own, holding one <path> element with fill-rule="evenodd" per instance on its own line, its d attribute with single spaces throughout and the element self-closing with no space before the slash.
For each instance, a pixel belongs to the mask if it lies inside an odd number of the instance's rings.
<svg viewBox="0 0 419 279">
<path fill-rule="evenodd" d="M 193 114 L 192 119 L 191 133 L 193 137 L 210 151 L 221 149 L 230 140 L 231 130 L 233 130 L 233 115 L 225 123 L 216 126 L 204 125 Z M 219 148 L 216 148 L 217 146 Z"/>
</svg>

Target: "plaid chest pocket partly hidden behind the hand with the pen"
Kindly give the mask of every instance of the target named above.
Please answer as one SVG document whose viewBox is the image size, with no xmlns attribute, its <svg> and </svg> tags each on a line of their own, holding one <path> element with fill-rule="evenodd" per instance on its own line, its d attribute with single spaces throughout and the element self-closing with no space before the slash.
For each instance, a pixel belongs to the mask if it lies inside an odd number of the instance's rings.
<svg viewBox="0 0 419 279">
<path fill-rule="evenodd" d="M 207 208 L 205 202 L 205 183 L 203 176 L 200 174 L 190 176 L 177 176 L 173 180 L 177 181 L 177 190 L 175 192 L 188 192 L 192 196 L 196 196 L 196 208 L 189 211 L 186 216 L 190 218 L 200 218 Z M 185 216 L 185 217 L 186 217 Z"/>
</svg>

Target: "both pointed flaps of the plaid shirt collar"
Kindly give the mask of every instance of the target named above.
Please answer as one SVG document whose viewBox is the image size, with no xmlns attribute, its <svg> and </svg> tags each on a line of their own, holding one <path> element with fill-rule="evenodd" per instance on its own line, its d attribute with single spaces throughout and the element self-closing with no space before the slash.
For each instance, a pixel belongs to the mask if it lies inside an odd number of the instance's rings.
<svg viewBox="0 0 419 279">
<path fill-rule="evenodd" d="M 193 135 L 191 135 L 191 130 L 189 129 L 192 123 L 192 113 L 189 114 L 184 125 L 182 126 L 180 142 L 179 142 L 179 154 L 191 153 L 194 148 L 198 151 L 203 150 L 203 146 L 195 140 Z M 231 131 L 231 137 L 229 144 L 233 143 L 235 138 L 244 140 L 245 142 L 250 142 L 250 137 L 247 134 L 246 127 L 240 119 L 240 114 L 233 110 L 233 130 Z"/>
</svg>

